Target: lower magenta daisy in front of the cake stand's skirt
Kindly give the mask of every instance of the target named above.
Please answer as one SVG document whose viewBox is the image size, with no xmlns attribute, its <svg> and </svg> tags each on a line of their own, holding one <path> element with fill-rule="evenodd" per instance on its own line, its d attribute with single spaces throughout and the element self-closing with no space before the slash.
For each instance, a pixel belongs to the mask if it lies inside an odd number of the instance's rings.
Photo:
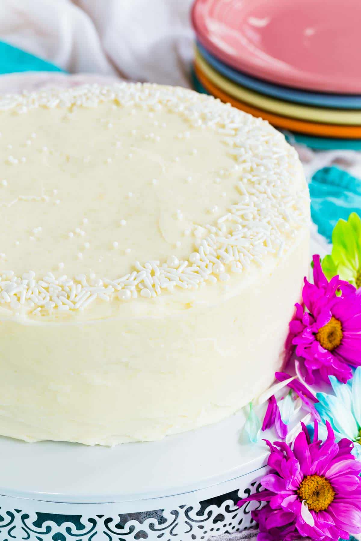
<svg viewBox="0 0 361 541">
<path fill-rule="evenodd" d="M 283 441 L 270 447 L 271 472 L 262 477 L 265 488 L 238 502 L 267 502 L 252 511 L 259 523 L 258 541 L 293 541 L 309 537 L 314 541 L 336 541 L 361 532 L 361 462 L 351 450 L 350 440 L 336 443 L 329 423 L 324 443 L 303 430 L 294 440 L 293 451 Z"/>
</svg>

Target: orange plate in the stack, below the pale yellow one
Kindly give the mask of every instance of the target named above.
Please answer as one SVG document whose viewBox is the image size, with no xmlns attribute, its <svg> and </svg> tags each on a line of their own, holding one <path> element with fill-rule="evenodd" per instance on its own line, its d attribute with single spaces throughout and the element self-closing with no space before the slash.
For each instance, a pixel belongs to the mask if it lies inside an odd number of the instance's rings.
<svg viewBox="0 0 361 541">
<path fill-rule="evenodd" d="M 338 126 L 336 124 L 318 124 L 315 122 L 306 122 L 304 120 L 296 120 L 294 118 L 288 118 L 286 116 L 274 115 L 267 111 L 262 111 L 255 107 L 251 107 L 247 103 L 236 100 L 232 96 L 229 96 L 224 91 L 216 87 L 208 78 L 204 75 L 199 66 L 194 63 L 194 71 L 199 78 L 205 89 L 213 94 L 216 98 L 226 103 L 231 103 L 233 107 L 242 109 L 246 113 L 250 113 L 253 116 L 260 116 L 264 120 L 268 120 L 274 126 L 283 128 L 290 131 L 298 131 L 299 133 L 309 135 L 321 135 L 324 137 L 339 137 L 341 139 L 361 139 L 361 126 Z"/>
</svg>

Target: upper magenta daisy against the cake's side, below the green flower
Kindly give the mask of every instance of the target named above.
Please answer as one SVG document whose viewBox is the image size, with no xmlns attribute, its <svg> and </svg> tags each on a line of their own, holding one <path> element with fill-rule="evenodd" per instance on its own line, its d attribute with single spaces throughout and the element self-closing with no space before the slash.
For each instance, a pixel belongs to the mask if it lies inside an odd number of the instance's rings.
<svg viewBox="0 0 361 541">
<path fill-rule="evenodd" d="M 304 359 L 308 384 L 314 372 L 329 382 L 334 375 L 345 383 L 352 366 L 361 365 L 361 290 L 334 276 L 327 281 L 319 255 L 313 256 L 314 284 L 307 281 L 302 296 L 305 309 L 296 304 L 290 323 L 292 344 Z"/>
</svg>

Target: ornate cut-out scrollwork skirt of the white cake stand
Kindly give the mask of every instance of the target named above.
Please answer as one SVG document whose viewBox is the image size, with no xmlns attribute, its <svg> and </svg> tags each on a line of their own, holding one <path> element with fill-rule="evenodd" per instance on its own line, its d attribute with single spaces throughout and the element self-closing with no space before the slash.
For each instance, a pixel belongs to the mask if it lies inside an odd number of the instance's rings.
<svg viewBox="0 0 361 541">
<path fill-rule="evenodd" d="M 260 490 L 254 476 L 261 470 L 207 489 L 140 502 L 69 504 L 0 496 L 0 539 L 191 541 L 243 531 L 252 527 L 255 504 L 239 509 L 237 502 Z"/>
</svg>

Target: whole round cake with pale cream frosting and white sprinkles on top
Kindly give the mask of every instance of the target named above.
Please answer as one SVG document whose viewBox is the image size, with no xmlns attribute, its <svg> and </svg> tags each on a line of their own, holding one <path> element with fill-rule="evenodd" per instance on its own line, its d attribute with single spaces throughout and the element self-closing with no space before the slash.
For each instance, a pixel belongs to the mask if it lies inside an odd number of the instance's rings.
<svg viewBox="0 0 361 541">
<path fill-rule="evenodd" d="M 156 440 L 264 391 L 309 264 L 284 136 L 153 84 L 5 96 L 0 120 L 0 434 Z"/>
</svg>

